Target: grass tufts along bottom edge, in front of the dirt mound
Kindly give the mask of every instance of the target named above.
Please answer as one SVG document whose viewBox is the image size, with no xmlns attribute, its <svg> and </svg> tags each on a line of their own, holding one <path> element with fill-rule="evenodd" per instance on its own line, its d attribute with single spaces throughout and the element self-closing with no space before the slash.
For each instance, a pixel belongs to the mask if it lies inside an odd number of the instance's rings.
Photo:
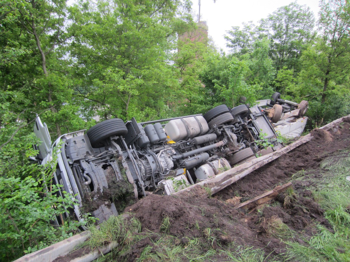
<svg viewBox="0 0 350 262">
<path fill-rule="evenodd" d="M 110 254 L 99 257 L 98 261 L 126 261 L 128 254 L 132 253 L 132 245 L 144 238 L 148 238 L 151 244 L 142 250 L 140 257 L 136 259 L 137 262 L 204 262 L 218 261 L 218 259 L 237 262 L 275 261 L 266 256 L 262 249 L 237 246 L 234 242 L 221 246 L 214 234 L 216 230 L 208 227 L 202 232 L 202 237 L 192 239 L 185 237 L 185 240 L 181 241 L 165 232 L 161 234 L 152 232 L 135 234 L 135 232 L 140 231 L 138 220 L 132 218 L 128 221 L 118 216 L 111 217 L 103 223 L 100 230 L 91 227 L 91 237 L 85 246 L 94 249 L 112 241 L 119 241 L 120 245 L 117 248 L 112 250 Z"/>
</svg>

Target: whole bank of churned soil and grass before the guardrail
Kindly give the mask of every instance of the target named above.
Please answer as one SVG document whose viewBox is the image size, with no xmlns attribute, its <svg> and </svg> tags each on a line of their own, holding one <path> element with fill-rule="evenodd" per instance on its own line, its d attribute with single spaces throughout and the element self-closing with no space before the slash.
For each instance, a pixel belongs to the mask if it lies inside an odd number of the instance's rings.
<svg viewBox="0 0 350 262">
<path fill-rule="evenodd" d="M 128 219 L 93 227 L 85 245 L 118 241 L 105 261 L 350 261 L 349 128 L 314 130 L 309 143 L 210 198 L 145 197 L 125 209 Z M 286 181 L 293 188 L 275 201 L 235 209 Z"/>
</svg>

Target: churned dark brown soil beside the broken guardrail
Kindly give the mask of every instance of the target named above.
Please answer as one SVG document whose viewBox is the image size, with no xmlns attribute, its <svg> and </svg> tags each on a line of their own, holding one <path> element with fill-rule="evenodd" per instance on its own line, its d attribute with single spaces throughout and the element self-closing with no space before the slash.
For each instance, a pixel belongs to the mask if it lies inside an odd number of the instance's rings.
<svg viewBox="0 0 350 262">
<path fill-rule="evenodd" d="M 290 176 L 301 170 L 312 170 L 309 174 L 313 178 L 319 176 L 319 165 L 323 159 L 349 148 L 349 128 L 347 119 L 330 131 L 313 130 L 311 134 L 314 138 L 311 141 L 255 170 L 211 198 L 199 197 L 204 192 L 187 197 L 150 195 L 125 211 L 134 213 L 141 221 L 142 232 L 162 233 L 162 221 L 168 217 L 168 234 L 176 236 L 184 244 L 191 238 L 203 238 L 205 241 L 203 232 L 211 228 L 216 239 L 214 247 L 234 241 L 237 246 L 262 248 L 270 256 L 283 253 L 286 251 L 285 245 L 268 230 L 271 221 L 281 220 L 306 238 L 315 233 L 312 225 L 316 223 L 332 231 L 323 210 L 311 197 L 311 191 L 307 190 L 311 182 L 293 182 L 296 195 L 289 204 L 283 205 L 285 196 L 281 194 L 276 200 L 280 202 L 279 205 L 261 207 L 259 212 L 255 209 L 247 213 L 234 206 L 287 182 Z M 301 238 L 294 241 L 303 243 Z M 127 260 L 135 260 L 148 245 L 153 245 L 151 238 L 136 243 Z"/>
</svg>

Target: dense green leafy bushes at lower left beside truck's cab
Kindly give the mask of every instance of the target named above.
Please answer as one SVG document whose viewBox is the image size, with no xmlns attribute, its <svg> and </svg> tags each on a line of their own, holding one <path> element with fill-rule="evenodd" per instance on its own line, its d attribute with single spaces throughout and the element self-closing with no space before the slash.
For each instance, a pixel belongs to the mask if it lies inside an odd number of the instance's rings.
<svg viewBox="0 0 350 262">
<path fill-rule="evenodd" d="M 75 199 L 68 194 L 58 196 L 59 187 L 50 184 L 54 162 L 45 167 L 28 162 L 27 158 L 37 153 L 32 149 L 33 142 L 30 134 L 15 137 L 1 148 L 0 235 L 1 239 L 6 239 L 0 244 L 2 261 L 16 259 L 68 238 L 79 226 L 91 221 L 65 221 L 62 227 L 50 224 L 50 220 L 66 212 Z M 26 151 L 21 152 L 23 148 Z"/>
</svg>

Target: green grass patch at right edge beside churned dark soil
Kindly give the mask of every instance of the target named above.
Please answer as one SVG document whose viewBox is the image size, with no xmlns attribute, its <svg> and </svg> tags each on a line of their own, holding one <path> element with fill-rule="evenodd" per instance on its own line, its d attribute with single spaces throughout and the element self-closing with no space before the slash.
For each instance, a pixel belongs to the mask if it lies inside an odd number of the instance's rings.
<svg viewBox="0 0 350 262">
<path fill-rule="evenodd" d="M 313 197 L 325 210 L 324 216 L 333 226 L 334 233 L 322 225 L 317 225 L 317 234 L 304 241 L 305 245 L 288 241 L 286 261 L 350 261 L 350 153 L 339 152 L 338 155 L 323 160 L 322 179 L 314 179 L 310 188 Z M 303 180 L 300 174 L 295 176 Z M 308 179 L 309 180 L 309 179 Z"/>
</svg>

